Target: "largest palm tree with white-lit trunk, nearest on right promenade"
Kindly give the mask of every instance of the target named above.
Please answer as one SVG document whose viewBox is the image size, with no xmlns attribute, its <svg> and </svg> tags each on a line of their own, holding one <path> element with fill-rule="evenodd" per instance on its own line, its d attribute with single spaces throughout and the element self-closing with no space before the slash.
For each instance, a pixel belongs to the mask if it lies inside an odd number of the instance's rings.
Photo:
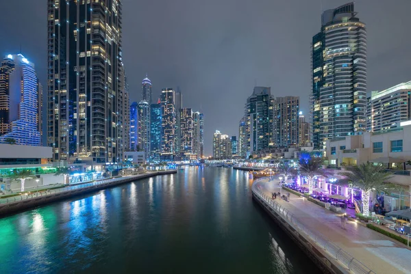
<svg viewBox="0 0 411 274">
<path fill-rule="evenodd" d="M 372 163 L 362 163 L 356 166 L 347 166 L 347 172 L 341 172 L 340 175 L 345 179 L 338 180 L 338 184 L 351 183 L 362 191 L 362 214 L 370 214 L 370 194 L 371 191 L 386 192 L 388 189 L 395 189 L 394 184 L 386 182 L 391 178 L 391 173 L 386 172 L 383 165 L 373 165 Z"/>
</svg>

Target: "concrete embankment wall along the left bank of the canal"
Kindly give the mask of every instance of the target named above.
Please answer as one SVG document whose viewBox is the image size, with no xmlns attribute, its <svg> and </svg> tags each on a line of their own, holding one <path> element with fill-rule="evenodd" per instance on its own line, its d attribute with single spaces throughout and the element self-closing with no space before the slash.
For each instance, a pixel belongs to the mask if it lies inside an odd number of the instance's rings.
<svg viewBox="0 0 411 274">
<path fill-rule="evenodd" d="M 18 196 L 14 200 L 9 199 L 10 202 L 3 202 L 0 204 L 0 217 L 3 215 L 10 215 L 12 213 L 18 213 L 28 208 L 34 208 L 50 202 L 67 199 L 84 193 L 92 191 L 99 191 L 101 189 L 107 189 L 109 187 L 115 187 L 119 184 L 125 184 L 127 182 L 133 182 L 144 178 L 149 178 L 158 175 L 175 174 L 177 170 L 167 170 L 163 172 L 148 172 L 145 174 L 138 174 L 135 176 L 125 176 L 121 178 L 104 180 L 102 182 L 91 182 L 88 184 L 66 187 L 64 189 L 56 189 L 50 193 L 42 195 L 32 195 L 28 197 Z M 18 200 L 20 199 L 20 200 Z M 4 199 L 3 199 L 4 200 Z"/>
</svg>

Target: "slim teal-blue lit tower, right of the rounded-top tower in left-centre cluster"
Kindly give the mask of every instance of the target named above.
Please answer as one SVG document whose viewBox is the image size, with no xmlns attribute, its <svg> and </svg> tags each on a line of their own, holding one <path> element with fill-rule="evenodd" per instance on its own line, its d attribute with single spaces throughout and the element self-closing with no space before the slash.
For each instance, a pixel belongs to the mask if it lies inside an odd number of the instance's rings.
<svg viewBox="0 0 411 274">
<path fill-rule="evenodd" d="M 150 161 L 159 162 L 161 152 L 161 104 L 151 104 Z"/>
</svg>

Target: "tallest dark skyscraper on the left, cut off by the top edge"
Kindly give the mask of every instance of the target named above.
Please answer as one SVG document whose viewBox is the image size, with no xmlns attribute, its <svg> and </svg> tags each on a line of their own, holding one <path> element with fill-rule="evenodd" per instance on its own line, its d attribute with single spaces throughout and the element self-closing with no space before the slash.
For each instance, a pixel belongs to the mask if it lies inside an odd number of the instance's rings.
<svg viewBox="0 0 411 274">
<path fill-rule="evenodd" d="M 121 1 L 48 0 L 47 143 L 54 161 L 123 159 Z"/>
</svg>

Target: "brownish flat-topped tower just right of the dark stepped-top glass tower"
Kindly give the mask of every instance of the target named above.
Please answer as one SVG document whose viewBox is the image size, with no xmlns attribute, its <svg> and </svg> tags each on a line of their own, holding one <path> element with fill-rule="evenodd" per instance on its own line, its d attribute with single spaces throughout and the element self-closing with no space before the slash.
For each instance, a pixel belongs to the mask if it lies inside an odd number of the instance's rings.
<svg viewBox="0 0 411 274">
<path fill-rule="evenodd" d="M 298 144 L 299 97 L 286 96 L 275 99 L 274 143 L 277 147 Z"/>
</svg>

